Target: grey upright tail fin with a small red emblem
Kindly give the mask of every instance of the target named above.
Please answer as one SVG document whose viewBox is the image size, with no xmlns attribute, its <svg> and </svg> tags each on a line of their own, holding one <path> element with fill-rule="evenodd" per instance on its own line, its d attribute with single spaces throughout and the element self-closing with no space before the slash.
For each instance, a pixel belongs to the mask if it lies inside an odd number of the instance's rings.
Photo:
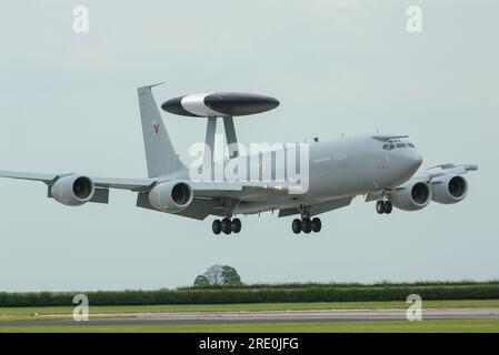
<svg viewBox="0 0 499 355">
<path fill-rule="evenodd" d="M 184 168 L 161 120 L 158 105 L 152 97 L 152 87 L 138 89 L 149 178 L 167 175 Z"/>
</svg>

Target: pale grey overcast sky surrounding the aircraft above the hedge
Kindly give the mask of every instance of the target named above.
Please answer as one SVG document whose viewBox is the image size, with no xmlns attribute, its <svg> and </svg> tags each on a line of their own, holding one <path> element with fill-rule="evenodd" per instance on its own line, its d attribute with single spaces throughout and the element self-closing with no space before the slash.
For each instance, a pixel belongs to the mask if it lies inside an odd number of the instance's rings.
<svg viewBox="0 0 499 355">
<path fill-rule="evenodd" d="M 89 10 L 74 33 L 72 9 Z M 422 32 L 406 30 L 407 8 Z M 2 1 L 0 169 L 147 175 L 137 87 L 158 103 L 186 93 L 257 92 L 271 112 L 239 140 L 296 142 L 409 134 L 422 168 L 477 163 L 468 197 L 378 215 L 357 197 L 305 237 L 291 219 L 242 219 L 237 236 L 134 207 L 67 207 L 42 183 L 0 180 L 0 291 L 159 288 L 212 264 L 247 283 L 499 278 L 497 1 Z M 203 120 L 163 114 L 188 161 Z"/>
</svg>

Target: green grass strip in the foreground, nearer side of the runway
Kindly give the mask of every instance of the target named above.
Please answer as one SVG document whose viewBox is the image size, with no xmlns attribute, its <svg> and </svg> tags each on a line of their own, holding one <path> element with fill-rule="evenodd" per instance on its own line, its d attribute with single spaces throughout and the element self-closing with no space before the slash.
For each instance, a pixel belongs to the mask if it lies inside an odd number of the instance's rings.
<svg viewBox="0 0 499 355">
<path fill-rule="evenodd" d="M 1 326 L 0 333 L 498 333 L 499 321 L 325 322 L 116 326 Z"/>
</svg>

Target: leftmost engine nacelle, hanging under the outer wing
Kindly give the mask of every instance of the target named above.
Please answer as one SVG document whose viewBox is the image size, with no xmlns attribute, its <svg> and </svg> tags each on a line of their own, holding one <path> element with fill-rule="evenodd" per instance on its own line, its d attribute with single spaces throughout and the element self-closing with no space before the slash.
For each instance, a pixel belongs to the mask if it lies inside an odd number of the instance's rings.
<svg viewBox="0 0 499 355">
<path fill-rule="evenodd" d="M 52 197 L 67 206 L 79 206 L 92 199 L 96 189 L 90 178 L 71 174 L 58 179 L 50 187 Z"/>
</svg>

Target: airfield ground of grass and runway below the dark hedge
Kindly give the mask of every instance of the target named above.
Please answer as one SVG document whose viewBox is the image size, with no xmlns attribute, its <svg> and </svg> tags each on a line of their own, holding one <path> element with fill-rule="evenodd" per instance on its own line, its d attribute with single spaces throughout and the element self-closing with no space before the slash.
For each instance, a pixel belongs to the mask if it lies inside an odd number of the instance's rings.
<svg viewBox="0 0 499 355">
<path fill-rule="evenodd" d="M 403 320 L 405 302 L 0 307 L 0 332 L 495 332 L 499 300 L 427 301 L 423 321 Z"/>
</svg>

